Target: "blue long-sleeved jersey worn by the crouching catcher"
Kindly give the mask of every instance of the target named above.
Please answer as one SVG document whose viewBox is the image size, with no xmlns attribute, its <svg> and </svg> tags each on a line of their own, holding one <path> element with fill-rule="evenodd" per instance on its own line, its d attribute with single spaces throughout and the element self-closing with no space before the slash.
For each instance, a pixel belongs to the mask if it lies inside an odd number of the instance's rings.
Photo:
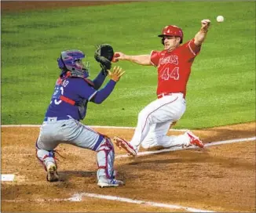
<svg viewBox="0 0 256 213">
<path fill-rule="evenodd" d="M 46 111 L 46 117 L 66 117 L 69 115 L 75 120 L 81 120 L 86 116 L 86 106 L 89 101 L 102 103 L 115 87 L 115 81 L 110 80 L 104 88 L 98 91 L 97 88 L 101 87 L 104 78 L 100 73 L 93 81 L 95 85 L 91 84 L 90 80 L 86 81 L 83 78 L 66 78 L 64 81 L 59 78 Z M 60 96 L 64 96 L 75 103 L 83 101 L 84 110 L 82 115 L 79 114 L 79 106 L 60 99 Z"/>
</svg>

